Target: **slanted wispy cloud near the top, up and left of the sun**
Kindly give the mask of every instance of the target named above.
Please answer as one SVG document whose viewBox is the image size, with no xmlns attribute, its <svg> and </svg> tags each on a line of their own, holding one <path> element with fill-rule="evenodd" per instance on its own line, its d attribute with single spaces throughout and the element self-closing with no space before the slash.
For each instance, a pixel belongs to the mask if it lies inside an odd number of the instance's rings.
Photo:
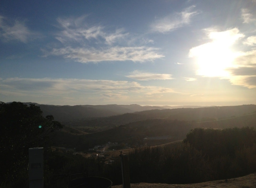
<svg viewBox="0 0 256 188">
<path fill-rule="evenodd" d="M 159 33 L 167 33 L 175 29 L 189 25 L 191 18 L 198 14 L 198 11 L 193 11 L 195 6 L 190 6 L 182 12 L 166 16 L 162 19 L 156 20 L 151 25 L 151 31 Z"/>
</svg>

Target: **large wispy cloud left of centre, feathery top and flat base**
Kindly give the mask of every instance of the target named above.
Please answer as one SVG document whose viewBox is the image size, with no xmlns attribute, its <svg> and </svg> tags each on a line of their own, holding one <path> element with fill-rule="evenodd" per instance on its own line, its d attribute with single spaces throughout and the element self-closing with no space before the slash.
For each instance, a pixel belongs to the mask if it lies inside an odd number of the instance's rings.
<svg viewBox="0 0 256 188">
<path fill-rule="evenodd" d="M 101 25 L 88 26 L 86 16 L 59 18 L 57 21 L 62 31 L 56 34 L 56 39 L 63 45 L 50 51 L 43 49 L 45 57 L 63 56 L 81 63 L 127 60 L 145 62 L 164 57 L 158 52 L 159 49 L 147 46 L 152 40 L 138 40 L 138 37 L 133 38 L 129 33 L 125 33 L 124 29 L 111 31 Z M 136 39 L 143 45 L 130 42 Z"/>
</svg>

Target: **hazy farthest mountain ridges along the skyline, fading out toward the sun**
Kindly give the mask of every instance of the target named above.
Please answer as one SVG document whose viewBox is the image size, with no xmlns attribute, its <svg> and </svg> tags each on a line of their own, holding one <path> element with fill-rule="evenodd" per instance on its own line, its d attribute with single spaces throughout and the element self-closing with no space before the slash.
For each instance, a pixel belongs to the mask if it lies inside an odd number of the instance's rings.
<svg viewBox="0 0 256 188">
<path fill-rule="evenodd" d="M 172 114 L 177 114 L 179 112 L 184 113 L 188 111 L 188 109 L 200 107 L 200 106 L 140 106 L 137 104 L 55 106 L 55 105 L 37 104 L 32 102 L 25 102 L 24 104 L 27 104 L 27 105 L 35 104 L 36 106 L 39 106 L 41 108 L 44 116 L 52 114 L 57 121 L 60 121 L 62 123 L 65 122 L 66 124 L 70 124 L 68 121 L 71 121 L 72 124 L 76 123 L 76 126 L 78 126 L 78 124 L 81 124 L 80 122 L 83 121 L 82 119 L 88 119 L 88 118 L 109 117 L 114 115 L 121 115 L 121 114 L 141 112 L 141 111 L 145 111 L 145 113 L 142 113 L 142 114 L 146 115 L 146 118 L 142 117 L 140 120 L 168 118 Z M 185 107 L 189 107 L 189 108 L 185 108 Z M 182 110 L 177 110 L 177 109 L 182 109 Z M 166 110 L 166 111 L 162 111 L 162 110 Z M 181 117 L 181 120 L 183 120 L 182 118 L 184 117 Z M 130 123 L 130 122 L 133 122 L 133 121 L 126 121 L 125 123 L 122 123 L 122 124 Z"/>
</svg>

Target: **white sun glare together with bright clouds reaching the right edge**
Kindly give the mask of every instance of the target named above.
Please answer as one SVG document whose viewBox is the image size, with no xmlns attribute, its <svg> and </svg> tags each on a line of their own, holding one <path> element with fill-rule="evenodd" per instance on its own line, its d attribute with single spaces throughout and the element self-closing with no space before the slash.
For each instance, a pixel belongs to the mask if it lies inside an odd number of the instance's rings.
<svg viewBox="0 0 256 188">
<path fill-rule="evenodd" d="M 209 31 L 209 29 L 207 30 Z M 244 37 L 237 28 L 223 32 L 209 31 L 209 43 L 194 47 L 189 57 L 196 57 L 197 74 L 204 77 L 228 79 L 233 85 L 256 87 L 256 50 L 235 52 L 232 46 Z M 243 44 L 253 46 L 255 36 L 248 37 Z"/>
</svg>

